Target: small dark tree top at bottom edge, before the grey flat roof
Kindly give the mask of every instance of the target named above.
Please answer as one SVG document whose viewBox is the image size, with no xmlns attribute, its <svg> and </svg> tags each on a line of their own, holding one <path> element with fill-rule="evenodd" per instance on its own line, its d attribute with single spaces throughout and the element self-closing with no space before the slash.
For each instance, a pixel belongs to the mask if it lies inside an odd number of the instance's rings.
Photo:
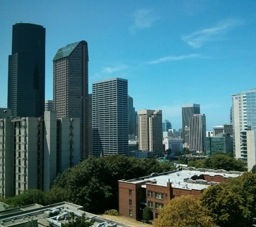
<svg viewBox="0 0 256 227">
<path fill-rule="evenodd" d="M 75 216 L 73 212 L 70 213 L 70 217 L 67 218 L 68 223 L 62 223 L 61 227 L 90 227 L 95 223 L 95 220 L 89 220 L 82 214 L 81 217 Z"/>
</svg>

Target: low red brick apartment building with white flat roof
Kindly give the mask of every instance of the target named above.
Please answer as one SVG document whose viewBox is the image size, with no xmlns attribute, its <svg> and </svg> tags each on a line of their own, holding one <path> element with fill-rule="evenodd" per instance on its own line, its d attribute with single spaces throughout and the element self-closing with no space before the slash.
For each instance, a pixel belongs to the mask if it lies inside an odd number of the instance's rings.
<svg viewBox="0 0 256 227">
<path fill-rule="evenodd" d="M 119 181 L 119 214 L 136 220 L 142 219 L 144 207 L 148 205 L 154 218 L 158 209 L 172 198 L 193 195 L 199 198 L 210 185 L 237 178 L 243 172 L 227 172 L 223 169 L 196 169 L 193 167 L 167 173 L 153 173 L 150 176 Z"/>
</svg>

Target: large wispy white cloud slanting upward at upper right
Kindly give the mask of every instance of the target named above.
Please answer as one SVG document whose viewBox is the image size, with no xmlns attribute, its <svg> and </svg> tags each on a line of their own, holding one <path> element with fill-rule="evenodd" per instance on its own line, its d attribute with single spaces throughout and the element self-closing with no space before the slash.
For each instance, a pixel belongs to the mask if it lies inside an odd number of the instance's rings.
<svg viewBox="0 0 256 227">
<path fill-rule="evenodd" d="M 243 24 L 241 20 L 225 20 L 219 22 L 214 27 L 210 27 L 209 29 L 199 30 L 187 36 L 183 36 L 182 39 L 190 46 L 199 48 L 204 44 L 204 42 L 219 40 L 224 34 L 241 24 Z"/>
</svg>

